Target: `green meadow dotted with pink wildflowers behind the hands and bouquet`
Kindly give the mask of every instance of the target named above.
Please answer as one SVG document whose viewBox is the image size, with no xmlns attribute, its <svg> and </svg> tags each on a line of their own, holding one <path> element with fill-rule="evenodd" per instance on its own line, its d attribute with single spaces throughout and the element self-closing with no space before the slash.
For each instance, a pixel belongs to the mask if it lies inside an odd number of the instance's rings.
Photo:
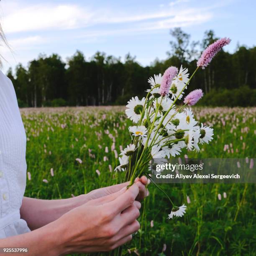
<svg viewBox="0 0 256 256">
<path fill-rule="evenodd" d="M 256 108 L 192 108 L 214 128 L 210 145 L 190 158 L 255 158 Z M 124 107 L 21 109 L 27 135 L 25 195 L 58 199 L 122 182 L 122 146 L 130 140 Z M 255 184 L 161 184 L 183 218 L 167 220 L 169 201 L 153 184 L 141 229 L 123 253 L 133 255 L 256 255 Z M 163 214 L 164 212 L 164 214 Z M 136 253 L 136 254 L 134 254 Z"/>
</svg>

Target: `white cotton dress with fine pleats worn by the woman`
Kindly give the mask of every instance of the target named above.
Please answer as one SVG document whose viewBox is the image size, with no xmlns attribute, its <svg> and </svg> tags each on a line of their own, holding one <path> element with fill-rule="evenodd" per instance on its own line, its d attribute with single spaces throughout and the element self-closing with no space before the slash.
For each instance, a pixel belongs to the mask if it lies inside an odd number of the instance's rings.
<svg viewBox="0 0 256 256">
<path fill-rule="evenodd" d="M 26 133 L 15 90 L 0 71 L 0 239 L 31 231 L 20 219 L 26 169 Z"/>
</svg>

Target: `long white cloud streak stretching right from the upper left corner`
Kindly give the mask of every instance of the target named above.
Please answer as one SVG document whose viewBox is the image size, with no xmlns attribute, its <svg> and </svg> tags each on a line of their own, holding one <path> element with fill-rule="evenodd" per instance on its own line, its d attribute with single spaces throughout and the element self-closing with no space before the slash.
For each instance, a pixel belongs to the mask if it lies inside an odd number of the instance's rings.
<svg viewBox="0 0 256 256">
<path fill-rule="evenodd" d="M 35 4 L 29 6 L 20 5 L 18 2 L 3 3 L 3 28 L 6 33 L 29 32 L 29 31 L 45 31 L 45 30 L 61 30 L 75 29 L 103 25 L 124 24 L 125 26 L 133 26 L 139 30 L 164 29 L 166 26 L 175 24 L 188 24 L 188 22 L 204 22 L 211 15 L 209 12 L 200 14 L 200 8 L 186 9 L 177 11 L 173 5 L 186 2 L 187 0 L 177 0 L 172 2 L 171 7 L 164 10 L 151 10 L 130 13 L 124 10 L 113 10 L 110 8 L 87 8 L 75 4 Z M 192 18 L 186 17 L 183 13 L 188 13 Z M 195 20 L 195 17 L 197 20 Z M 187 26 L 187 25 L 186 25 Z M 124 30 L 126 29 L 123 27 Z M 115 28 L 113 28 L 115 30 Z M 128 29 L 129 30 L 129 29 Z M 135 29 L 136 30 L 136 29 Z"/>
</svg>

